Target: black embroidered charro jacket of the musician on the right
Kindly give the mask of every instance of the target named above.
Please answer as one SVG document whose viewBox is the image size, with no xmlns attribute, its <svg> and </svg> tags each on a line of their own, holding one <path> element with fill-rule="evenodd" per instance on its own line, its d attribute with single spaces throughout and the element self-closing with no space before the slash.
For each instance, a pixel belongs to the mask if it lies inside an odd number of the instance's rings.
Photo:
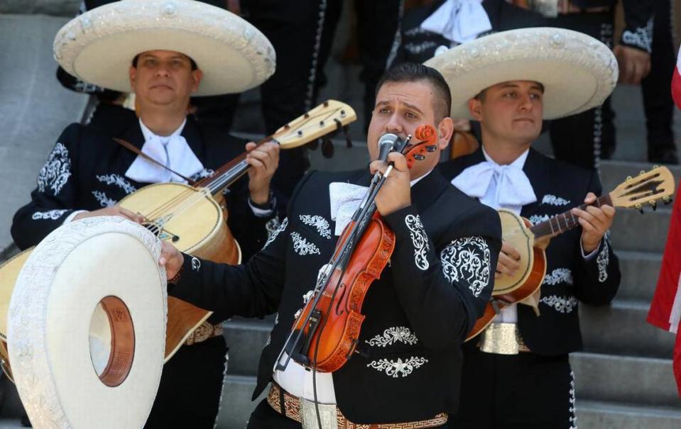
<svg viewBox="0 0 681 429">
<path fill-rule="evenodd" d="M 440 165 L 442 174 L 453 179 L 467 167 L 484 162 L 482 150 Z M 521 216 L 532 223 L 545 221 L 583 203 L 588 192 L 601 194 L 596 172 L 553 160 L 530 149 L 523 171 L 537 201 L 523 206 Z M 532 308 L 518 305 L 518 328 L 523 340 L 540 355 L 563 355 L 582 349 L 577 301 L 599 306 L 609 303 L 619 287 L 619 260 L 613 252 L 609 232 L 596 255 L 582 256 L 582 228 L 552 238 L 546 250 L 546 277 L 541 286 L 540 316 Z"/>
</svg>

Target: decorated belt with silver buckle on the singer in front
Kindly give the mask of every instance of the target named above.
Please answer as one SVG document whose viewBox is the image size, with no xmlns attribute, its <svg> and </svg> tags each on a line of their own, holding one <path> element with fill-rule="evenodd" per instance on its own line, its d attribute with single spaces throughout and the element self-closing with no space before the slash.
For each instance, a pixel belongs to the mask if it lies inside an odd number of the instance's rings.
<svg viewBox="0 0 681 429">
<path fill-rule="evenodd" d="M 313 401 L 293 396 L 272 381 L 267 403 L 281 415 L 295 420 L 303 425 L 303 429 L 318 429 L 317 410 Z M 429 420 L 419 420 L 406 423 L 360 424 L 352 423 L 334 404 L 317 404 L 319 406 L 322 429 L 420 429 L 435 428 L 447 423 L 447 413 L 440 413 Z"/>
</svg>

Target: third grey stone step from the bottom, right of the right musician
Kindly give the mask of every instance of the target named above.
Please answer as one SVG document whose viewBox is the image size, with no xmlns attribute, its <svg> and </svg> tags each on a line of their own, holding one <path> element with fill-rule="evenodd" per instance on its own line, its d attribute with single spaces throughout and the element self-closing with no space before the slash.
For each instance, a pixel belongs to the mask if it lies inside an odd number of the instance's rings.
<svg viewBox="0 0 681 429">
<path fill-rule="evenodd" d="M 675 336 L 645 321 L 649 303 L 616 299 L 610 306 L 581 304 L 584 349 L 589 352 L 614 353 L 671 359 Z"/>
</svg>

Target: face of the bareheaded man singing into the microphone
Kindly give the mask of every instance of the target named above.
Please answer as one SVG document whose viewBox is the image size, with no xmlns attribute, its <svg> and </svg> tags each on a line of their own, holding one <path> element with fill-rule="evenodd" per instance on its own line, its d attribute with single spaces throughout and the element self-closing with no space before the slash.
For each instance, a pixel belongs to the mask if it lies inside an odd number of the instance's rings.
<svg viewBox="0 0 681 429">
<path fill-rule="evenodd" d="M 369 123 L 366 144 L 371 160 L 378 158 L 378 139 L 385 133 L 393 133 L 405 138 L 414 135 L 418 126 L 430 124 L 437 130 L 437 150 L 427 152 L 425 160 L 416 161 L 410 169 L 412 179 L 423 176 L 440 161 L 440 151 L 449 144 L 452 120 L 445 118 L 436 122 L 433 111 L 435 92 L 425 81 L 386 82 L 376 94 L 376 106 Z M 412 143 L 418 143 L 415 138 Z"/>
</svg>

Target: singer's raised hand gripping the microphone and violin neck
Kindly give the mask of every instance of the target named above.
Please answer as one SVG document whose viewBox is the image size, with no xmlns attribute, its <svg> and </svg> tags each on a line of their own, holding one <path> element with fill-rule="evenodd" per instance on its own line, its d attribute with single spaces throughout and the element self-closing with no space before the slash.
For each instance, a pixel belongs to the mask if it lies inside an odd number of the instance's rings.
<svg viewBox="0 0 681 429">
<path fill-rule="evenodd" d="M 391 152 L 388 154 L 388 162 L 394 163 L 393 169 L 376 196 L 376 208 L 381 216 L 388 216 L 390 213 L 411 205 L 411 179 L 407 160 L 401 153 Z M 379 160 L 369 165 L 371 174 L 377 171 L 385 173 L 387 168 L 388 163 Z"/>
</svg>

